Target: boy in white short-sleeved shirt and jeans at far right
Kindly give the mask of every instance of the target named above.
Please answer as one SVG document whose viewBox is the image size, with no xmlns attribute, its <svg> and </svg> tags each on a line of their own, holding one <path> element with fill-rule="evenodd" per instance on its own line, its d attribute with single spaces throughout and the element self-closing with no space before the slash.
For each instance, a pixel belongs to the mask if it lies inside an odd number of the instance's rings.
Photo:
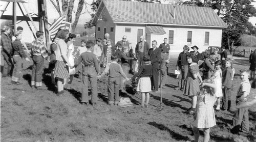
<svg viewBox="0 0 256 142">
<path fill-rule="evenodd" d="M 238 89 L 236 104 L 243 105 L 248 101 L 247 95 L 250 93 L 250 82 L 249 82 L 249 72 L 246 69 L 240 70 L 241 84 Z M 234 112 L 233 118 L 233 128 L 231 129 L 232 133 L 239 133 L 242 131 L 244 133 L 249 132 L 249 115 L 248 115 L 248 107 L 238 108 Z M 240 130 L 241 129 L 241 130 Z"/>
</svg>

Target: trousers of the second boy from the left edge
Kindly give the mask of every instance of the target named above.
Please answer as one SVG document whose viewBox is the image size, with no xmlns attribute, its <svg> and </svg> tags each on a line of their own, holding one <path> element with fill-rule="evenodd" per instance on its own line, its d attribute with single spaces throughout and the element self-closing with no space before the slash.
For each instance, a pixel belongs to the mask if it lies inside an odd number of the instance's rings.
<svg viewBox="0 0 256 142">
<path fill-rule="evenodd" d="M 14 82 L 18 82 L 20 76 L 22 75 L 22 57 L 20 57 L 19 55 L 13 56 L 13 62 L 14 62 L 14 69 L 13 69 L 13 74 L 12 74 L 12 81 Z"/>
</svg>

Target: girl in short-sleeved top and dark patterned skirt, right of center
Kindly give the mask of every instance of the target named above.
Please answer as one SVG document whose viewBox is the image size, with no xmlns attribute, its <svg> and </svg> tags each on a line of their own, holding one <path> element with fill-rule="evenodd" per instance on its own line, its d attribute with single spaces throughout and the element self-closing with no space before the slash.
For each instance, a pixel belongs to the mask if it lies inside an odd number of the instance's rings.
<svg viewBox="0 0 256 142">
<path fill-rule="evenodd" d="M 200 91 L 199 83 L 202 82 L 197 62 L 198 59 L 194 54 L 187 55 L 187 63 L 189 66 L 184 83 L 183 95 L 187 95 L 192 99 L 191 107 L 187 111 L 190 115 L 193 115 L 196 111 L 197 94 Z"/>
</svg>

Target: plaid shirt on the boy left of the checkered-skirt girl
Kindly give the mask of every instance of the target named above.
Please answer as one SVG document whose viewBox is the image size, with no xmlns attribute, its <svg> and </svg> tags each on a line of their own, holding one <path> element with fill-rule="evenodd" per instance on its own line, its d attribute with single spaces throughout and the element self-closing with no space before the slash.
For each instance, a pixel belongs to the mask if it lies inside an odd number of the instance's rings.
<svg viewBox="0 0 256 142">
<path fill-rule="evenodd" d="M 40 39 L 34 40 L 31 44 L 31 50 L 32 50 L 32 55 L 41 55 L 46 60 L 49 60 L 44 41 Z"/>
</svg>

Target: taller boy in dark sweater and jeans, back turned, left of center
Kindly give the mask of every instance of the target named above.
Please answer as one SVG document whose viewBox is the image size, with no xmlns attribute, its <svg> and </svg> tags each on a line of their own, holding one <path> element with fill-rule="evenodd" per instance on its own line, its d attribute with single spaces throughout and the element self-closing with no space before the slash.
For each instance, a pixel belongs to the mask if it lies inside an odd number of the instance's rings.
<svg viewBox="0 0 256 142">
<path fill-rule="evenodd" d="M 87 51 L 83 52 L 78 61 L 75 64 L 75 68 L 82 62 L 83 69 L 82 69 L 82 96 L 81 96 L 81 104 L 89 104 L 89 97 L 88 97 L 88 83 L 91 83 L 91 92 L 92 92 L 92 99 L 91 103 L 94 106 L 98 99 L 97 93 L 97 75 L 99 74 L 99 64 L 96 55 L 93 53 L 94 43 L 88 43 L 86 45 Z"/>
</svg>

